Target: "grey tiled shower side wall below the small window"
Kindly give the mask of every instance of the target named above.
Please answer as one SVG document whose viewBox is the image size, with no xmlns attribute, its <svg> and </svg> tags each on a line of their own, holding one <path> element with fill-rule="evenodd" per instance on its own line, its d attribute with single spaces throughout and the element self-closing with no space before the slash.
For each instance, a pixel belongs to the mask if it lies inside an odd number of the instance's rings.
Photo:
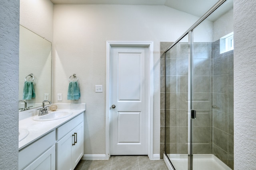
<svg viewBox="0 0 256 170">
<path fill-rule="evenodd" d="M 234 51 L 213 43 L 213 154 L 234 168 Z"/>
</svg>

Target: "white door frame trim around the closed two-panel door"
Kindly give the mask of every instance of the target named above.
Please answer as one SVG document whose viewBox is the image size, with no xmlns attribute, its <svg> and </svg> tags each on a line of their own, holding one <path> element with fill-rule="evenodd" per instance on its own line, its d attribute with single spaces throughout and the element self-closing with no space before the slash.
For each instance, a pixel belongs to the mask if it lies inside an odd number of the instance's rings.
<svg viewBox="0 0 256 170">
<path fill-rule="evenodd" d="M 106 159 L 110 158 L 111 47 L 148 47 L 148 157 L 153 159 L 153 41 L 106 41 Z"/>
</svg>

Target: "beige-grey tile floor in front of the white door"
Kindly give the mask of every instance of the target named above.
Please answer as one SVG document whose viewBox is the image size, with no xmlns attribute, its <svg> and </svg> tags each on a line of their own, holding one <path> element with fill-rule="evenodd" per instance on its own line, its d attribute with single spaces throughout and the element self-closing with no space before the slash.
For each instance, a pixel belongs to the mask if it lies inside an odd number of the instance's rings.
<svg viewBox="0 0 256 170">
<path fill-rule="evenodd" d="M 80 160 L 74 170 L 168 170 L 164 160 L 148 156 L 111 156 L 109 160 Z"/>
</svg>

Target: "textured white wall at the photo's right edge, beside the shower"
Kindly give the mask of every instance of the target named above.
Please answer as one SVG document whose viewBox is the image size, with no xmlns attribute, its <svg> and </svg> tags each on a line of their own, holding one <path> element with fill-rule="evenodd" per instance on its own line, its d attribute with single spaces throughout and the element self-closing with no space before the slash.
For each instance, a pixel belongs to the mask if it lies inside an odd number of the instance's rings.
<svg viewBox="0 0 256 170">
<path fill-rule="evenodd" d="M 256 1 L 234 0 L 234 169 L 256 165 Z"/>
</svg>

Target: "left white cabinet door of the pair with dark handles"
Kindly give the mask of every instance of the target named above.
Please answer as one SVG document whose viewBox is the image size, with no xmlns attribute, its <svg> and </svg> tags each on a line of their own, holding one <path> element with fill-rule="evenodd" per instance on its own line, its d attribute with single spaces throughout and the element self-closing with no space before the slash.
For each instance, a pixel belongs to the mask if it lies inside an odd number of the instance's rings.
<svg viewBox="0 0 256 170">
<path fill-rule="evenodd" d="M 56 169 L 71 170 L 71 154 L 72 154 L 72 133 L 68 133 L 60 141 L 56 143 Z"/>
</svg>

